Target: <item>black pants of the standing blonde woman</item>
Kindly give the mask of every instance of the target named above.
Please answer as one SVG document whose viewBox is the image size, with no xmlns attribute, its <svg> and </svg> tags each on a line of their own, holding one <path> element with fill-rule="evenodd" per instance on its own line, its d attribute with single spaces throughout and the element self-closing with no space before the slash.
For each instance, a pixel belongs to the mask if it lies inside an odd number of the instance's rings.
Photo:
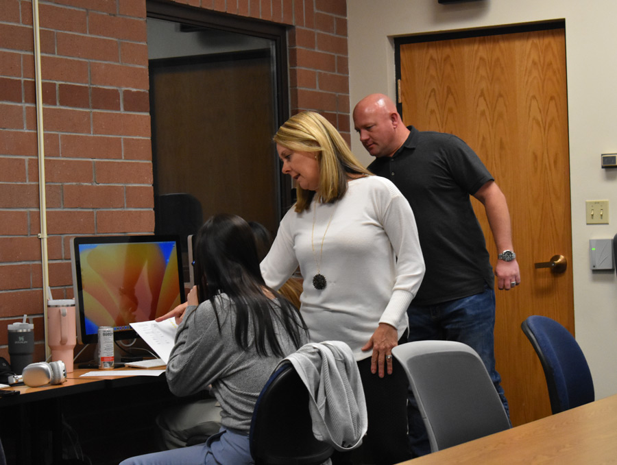
<svg viewBox="0 0 617 465">
<path fill-rule="evenodd" d="M 368 429 L 359 449 L 336 452 L 332 464 L 397 464 L 411 459 L 407 439 L 409 382 L 400 363 L 392 359 L 392 374 L 371 373 L 371 357 L 358 362 L 366 398 Z"/>
</svg>

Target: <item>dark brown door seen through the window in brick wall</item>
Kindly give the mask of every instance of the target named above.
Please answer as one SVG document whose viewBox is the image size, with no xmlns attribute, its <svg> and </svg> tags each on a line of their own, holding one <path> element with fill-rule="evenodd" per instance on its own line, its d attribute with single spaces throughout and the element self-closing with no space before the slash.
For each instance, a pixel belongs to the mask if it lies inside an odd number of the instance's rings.
<svg viewBox="0 0 617 465">
<path fill-rule="evenodd" d="M 278 228 L 269 50 L 150 62 L 156 194 L 187 192 L 204 220 L 234 213 Z"/>
</svg>

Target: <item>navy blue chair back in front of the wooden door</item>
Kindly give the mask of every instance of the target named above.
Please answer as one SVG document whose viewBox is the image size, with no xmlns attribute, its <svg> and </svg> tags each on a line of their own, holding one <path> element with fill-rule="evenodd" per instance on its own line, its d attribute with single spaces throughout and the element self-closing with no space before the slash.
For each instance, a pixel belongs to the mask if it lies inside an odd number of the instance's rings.
<svg viewBox="0 0 617 465">
<path fill-rule="evenodd" d="M 594 401 L 587 360 L 570 332 L 540 315 L 531 315 L 520 326 L 542 363 L 553 414 Z"/>
</svg>

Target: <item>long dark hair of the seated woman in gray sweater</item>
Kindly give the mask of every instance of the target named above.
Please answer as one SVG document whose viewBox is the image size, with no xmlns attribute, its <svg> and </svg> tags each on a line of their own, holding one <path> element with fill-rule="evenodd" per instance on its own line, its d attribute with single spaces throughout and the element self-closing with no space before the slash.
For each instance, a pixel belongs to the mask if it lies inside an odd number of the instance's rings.
<svg viewBox="0 0 617 465">
<path fill-rule="evenodd" d="M 234 339 L 239 347 L 248 348 L 248 329 L 252 324 L 257 353 L 285 357 L 287 354 L 283 353 L 276 337 L 274 320 L 282 323 L 295 347 L 300 347 L 300 333 L 306 331 L 306 324 L 287 299 L 265 285 L 254 234 L 244 219 L 218 214 L 199 229 L 195 243 L 195 276 L 199 302 L 210 300 L 219 331 L 221 308 L 217 305 L 217 296 L 223 293 L 232 301 L 231 308 L 236 314 Z M 276 311 L 276 303 L 265 296 L 264 291 L 278 298 L 280 311 Z"/>
</svg>

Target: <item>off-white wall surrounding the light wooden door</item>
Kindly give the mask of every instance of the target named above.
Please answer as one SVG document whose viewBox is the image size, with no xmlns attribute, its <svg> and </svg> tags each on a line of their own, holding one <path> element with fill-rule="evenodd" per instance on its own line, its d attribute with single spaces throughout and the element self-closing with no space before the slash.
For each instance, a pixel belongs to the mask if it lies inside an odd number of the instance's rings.
<svg viewBox="0 0 617 465">
<path fill-rule="evenodd" d="M 589 239 L 608 239 L 617 233 L 617 169 L 600 167 L 600 154 L 617 152 L 617 1 L 347 3 L 352 108 L 369 93 L 394 99 L 394 36 L 565 19 L 575 331 L 590 363 L 596 398 L 617 393 L 617 277 L 615 272 L 592 273 L 588 257 Z M 352 150 L 369 163 L 370 156 L 355 134 Z M 611 224 L 585 224 L 585 200 L 605 199 L 610 201 Z"/>
</svg>

